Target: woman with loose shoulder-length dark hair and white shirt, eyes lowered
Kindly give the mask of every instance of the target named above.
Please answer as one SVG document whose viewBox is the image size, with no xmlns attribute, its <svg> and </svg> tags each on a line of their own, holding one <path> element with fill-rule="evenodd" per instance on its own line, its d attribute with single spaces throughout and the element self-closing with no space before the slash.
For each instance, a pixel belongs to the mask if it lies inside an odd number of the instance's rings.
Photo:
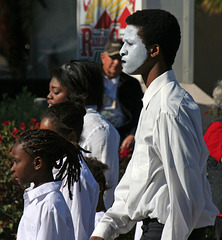
<svg viewBox="0 0 222 240">
<path fill-rule="evenodd" d="M 109 167 L 106 181 L 110 189 L 104 193 L 105 206 L 108 209 L 114 201 L 114 190 L 119 178 L 119 141 L 115 127 L 98 111 L 103 105 L 103 76 L 99 64 L 91 61 L 72 60 L 52 72 L 47 96 L 49 107 L 66 100 L 84 99 L 86 115 L 80 146 L 88 150 L 86 157 L 96 157 Z"/>
</svg>

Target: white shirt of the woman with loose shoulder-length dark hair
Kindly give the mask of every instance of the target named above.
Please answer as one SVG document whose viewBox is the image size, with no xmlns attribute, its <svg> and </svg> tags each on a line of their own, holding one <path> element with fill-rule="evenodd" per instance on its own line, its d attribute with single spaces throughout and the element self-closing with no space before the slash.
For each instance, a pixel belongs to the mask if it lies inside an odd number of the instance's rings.
<svg viewBox="0 0 222 240">
<path fill-rule="evenodd" d="M 91 153 L 84 153 L 87 157 L 95 157 L 109 167 L 106 181 L 111 188 L 104 193 L 106 209 L 111 207 L 114 200 L 114 190 L 119 177 L 119 140 L 120 136 L 115 127 L 99 112 L 96 106 L 87 106 L 84 116 L 83 131 L 80 146 Z"/>
</svg>

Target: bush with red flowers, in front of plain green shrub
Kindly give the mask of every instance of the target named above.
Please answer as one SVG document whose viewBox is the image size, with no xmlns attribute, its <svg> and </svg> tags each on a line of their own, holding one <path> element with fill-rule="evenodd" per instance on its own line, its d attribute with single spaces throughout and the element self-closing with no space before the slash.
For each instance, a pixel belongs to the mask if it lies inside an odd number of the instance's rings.
<svg viewBox="0 0 222 240">
<path fill-rule="evenodd" d="M 21 187 L 12 178 L 11 149 L 18 135 L 26 130 L 39 128 L 36 119 L 28 124 L 22 122 L 19 127 L 15 121 L 4 121 L 0 125 L 0 239 L 15 239 L 19 220 L 23 212 L 23 192 Z"/>
</svg>

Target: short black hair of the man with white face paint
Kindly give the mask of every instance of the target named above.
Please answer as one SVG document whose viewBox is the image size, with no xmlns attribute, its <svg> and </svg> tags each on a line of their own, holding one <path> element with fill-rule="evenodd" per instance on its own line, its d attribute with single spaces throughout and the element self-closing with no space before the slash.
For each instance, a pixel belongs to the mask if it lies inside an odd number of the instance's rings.
<svg viewBox="0 0 222 240">
<path fill-rule="evenodd" d="M 161 9 L 144 9 L 128 16 L 126 23 L 139 29 L 138 35 L 146 47 L 158 44 L 167 66 L 173 65 L 181 39 L 174 15 Z"/>
</svg>

